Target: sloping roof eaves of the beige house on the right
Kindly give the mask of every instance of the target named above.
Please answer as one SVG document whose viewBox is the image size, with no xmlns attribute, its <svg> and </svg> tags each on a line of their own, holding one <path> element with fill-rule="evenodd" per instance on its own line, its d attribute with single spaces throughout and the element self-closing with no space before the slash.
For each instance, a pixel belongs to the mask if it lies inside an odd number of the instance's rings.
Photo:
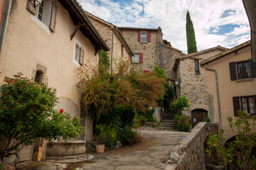
<svg viewBox="0 0 256 170">
<path fill-rule="evenodd" d="M 241 49 L 242 47 L 245 47 L 245 46 L 247 46 L 247 45 L 250 45 L 250 40 L 248 40 L 247 42 L 243 42 L 242 44 L 237 45 L 237 46 L 235 46 L 235 47 L 233 47 L 233 48 L 230 48 L 229 50 L 225 50 L 224 52 L 221 52 L 221 53 L 218 54 L 218 55 L 215 55 L 215 56 L 210 57 L 210 58 L 208 58 L 208 59 L 206 59 L 206 60 L 203 60 L 200 64 L 206 64 L 206 63 L 208 63 L 208 62 L 212 62 L 213 60 L 216 60 L 216 59 L 218 59 L 218 58 L 220 58 L 220 57 L 223 57 L 224 55 L 228 55 L 228 54 L 230 54 L 231 52 L 235 52 L 236 50 L 239 50 L 239 49 Z"/>
</svg>

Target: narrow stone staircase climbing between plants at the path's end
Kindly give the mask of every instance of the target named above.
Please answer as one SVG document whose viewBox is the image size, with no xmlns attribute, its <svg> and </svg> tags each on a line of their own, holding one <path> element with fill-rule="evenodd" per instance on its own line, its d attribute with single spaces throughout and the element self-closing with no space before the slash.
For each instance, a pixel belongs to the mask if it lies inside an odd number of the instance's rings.
<svg viewBox="0 0 256 170">
<path fill-rule="evenodd" d="M 176 115 L 176 113 L 177 111 L 175 109 L 165 111 L 164 118 L 156 129 L 177 131 L 174 125 L 174 115 Z"/>
</svg>

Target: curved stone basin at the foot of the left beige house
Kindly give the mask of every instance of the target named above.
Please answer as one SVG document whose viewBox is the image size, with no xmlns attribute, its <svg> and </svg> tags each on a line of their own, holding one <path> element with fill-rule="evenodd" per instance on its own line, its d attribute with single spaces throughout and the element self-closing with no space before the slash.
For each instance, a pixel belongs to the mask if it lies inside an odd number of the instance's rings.
<svg viewBox="0 0 256 170">
<path fill-rule="evenodd" d="M 46 159 L 74 159 L 85 157 L 85 141 L 69 141 L 47 143 Z"/>
</svg>

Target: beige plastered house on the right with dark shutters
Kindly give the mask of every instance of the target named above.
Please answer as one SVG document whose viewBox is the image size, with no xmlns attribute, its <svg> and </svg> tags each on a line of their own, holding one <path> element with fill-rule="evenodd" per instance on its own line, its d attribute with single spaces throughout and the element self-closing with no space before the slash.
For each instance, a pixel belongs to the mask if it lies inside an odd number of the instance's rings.
<svg viewBox="0 0 256 170">
<path fill-rule="evenodd" d="M 252 61 L 250 42 L 244 42 L 201 62 L 206 67 L 209 115 L 213 123 L 225 130 L 225 140 L 233 140 L 231 137 L 234 137 L 228 117 L 238 118 L 238 110 L 247 115 L 256 114 L 256 62 Z M 252 125 L 251 118 L 249 122 Z"/>
</svg>

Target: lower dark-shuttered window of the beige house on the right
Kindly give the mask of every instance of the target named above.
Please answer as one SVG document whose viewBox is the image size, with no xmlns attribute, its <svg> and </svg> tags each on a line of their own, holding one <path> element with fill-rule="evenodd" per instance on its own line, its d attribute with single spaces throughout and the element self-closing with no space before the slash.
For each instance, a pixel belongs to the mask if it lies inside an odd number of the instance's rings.
<svg viewBox="0 0 256 170">
<path fill-rule="evenodd" d="M 242 110 L 245 113 L 256 114 L 256 95 L 233 97 L 233 106 L 235 116 L 238 116 L 238 110 Z"/>
</svg>

